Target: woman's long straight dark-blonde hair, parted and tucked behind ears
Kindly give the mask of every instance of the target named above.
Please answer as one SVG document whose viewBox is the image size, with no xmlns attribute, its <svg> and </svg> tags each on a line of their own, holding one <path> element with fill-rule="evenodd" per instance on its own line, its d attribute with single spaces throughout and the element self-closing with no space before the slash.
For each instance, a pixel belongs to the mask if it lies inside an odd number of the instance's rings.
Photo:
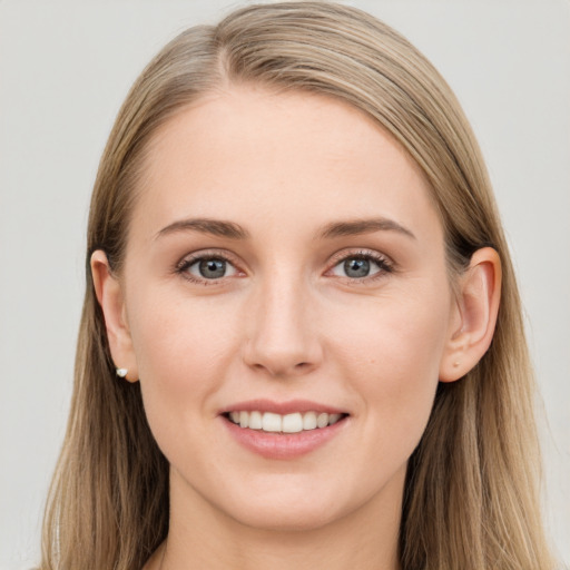
<svg viewBox="0 0 570 570">
<path fill-rule="evenodd" d="M 139 569 L 168 533 L 168 463 L 138 384 L 116 379 L 89 259 L 104 249 L 120 273 L 140 165 L 157 127 L 238 82 L 317 92 L 362 109 L 431 183 L 450 269 L 461 272 L 480 247 L 498 250 L 503 285 L 492 345 L 461 381 L 440 384 L 409 462 L 401 567 L 551 569 L 520 299 L 478 144 L 445 81 L 402 36 L 355 8 L 313 1 L 250 6 L 218 26 L 183 32 L 142 71 L 117 117 L 92 194 L 73 397 L 41 569 Z"/>
</svg>

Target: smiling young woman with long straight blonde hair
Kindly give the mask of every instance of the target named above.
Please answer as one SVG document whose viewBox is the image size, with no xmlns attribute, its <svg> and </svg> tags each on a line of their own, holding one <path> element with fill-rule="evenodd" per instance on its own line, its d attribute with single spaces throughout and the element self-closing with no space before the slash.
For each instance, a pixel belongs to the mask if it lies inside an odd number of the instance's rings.
<svg viewBox="0 0 570 570">
<path fill-rule="evenodd" d="M 101 160 L 42 568 L 552 568 L 521 331 L 406 40 L 321 2 L 187 30 Z"/>
</svg>

